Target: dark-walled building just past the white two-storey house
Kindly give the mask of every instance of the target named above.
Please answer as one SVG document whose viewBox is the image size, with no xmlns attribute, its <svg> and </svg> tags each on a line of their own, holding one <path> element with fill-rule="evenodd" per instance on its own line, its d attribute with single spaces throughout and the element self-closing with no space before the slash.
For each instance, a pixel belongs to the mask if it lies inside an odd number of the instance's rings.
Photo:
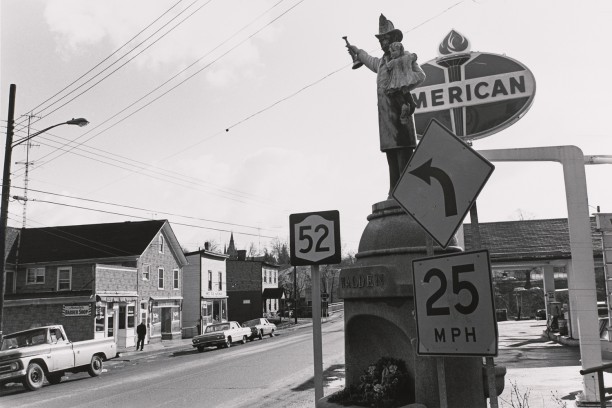
<svg viewBox="0 0 612 408">
<path fill-rule="evenodd" d="M 246 251 L 237 252 L 236 259 L 227 260 L 229 319 L 244 322 L 276 315 L 284 298 L 278 287 L 278 265 L 247 259 Z"/>
</svg>

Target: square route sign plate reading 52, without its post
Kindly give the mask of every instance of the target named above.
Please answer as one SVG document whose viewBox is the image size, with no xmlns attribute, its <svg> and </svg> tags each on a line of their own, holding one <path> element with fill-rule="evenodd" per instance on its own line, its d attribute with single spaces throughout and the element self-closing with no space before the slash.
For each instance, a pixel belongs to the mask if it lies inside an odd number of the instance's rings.
<svg viewBox="0 0 612 408">
<path fill-rule="evenodd" d="M 291 265 L 340 263 L 340 213 L 320 211 L 289 216 Z"/>
</svg>

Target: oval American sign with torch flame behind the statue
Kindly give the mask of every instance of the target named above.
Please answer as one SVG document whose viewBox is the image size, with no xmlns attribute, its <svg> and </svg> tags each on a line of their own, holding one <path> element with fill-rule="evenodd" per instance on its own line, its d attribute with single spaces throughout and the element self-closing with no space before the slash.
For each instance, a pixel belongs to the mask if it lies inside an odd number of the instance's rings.
<svg viewBox="0 0 612 408">
<path fill-rule="evenodd" d="M 519 61 L 472 52 L 455 30 L 440 43 L 438 55 L 421 64 L 427 78 L 412 91 L 419 137 L 436 119 L 463 140 L 480 139 L 514 124 L 531 107 L 535 78 Z"/>
</svg>

